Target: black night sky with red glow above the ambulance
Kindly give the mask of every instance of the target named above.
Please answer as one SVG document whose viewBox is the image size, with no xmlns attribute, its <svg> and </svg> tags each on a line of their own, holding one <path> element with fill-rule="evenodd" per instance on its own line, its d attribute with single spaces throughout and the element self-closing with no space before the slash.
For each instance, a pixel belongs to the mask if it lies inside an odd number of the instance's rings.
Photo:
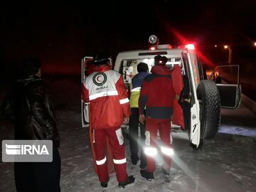
<svg viewBox="0 0 256 192">
<path fill-rule="evenodd" d="M 214 45 L 230 45 L 242 92 L 256 100 L 255 7 L 253 0 L 1 3 L 1 85 L 14 79 L 28 56 L 40 58 L 52 78 L 79 77 L 85 55 L 103 49 L 114 59 L 120 51 L 148 48 L 155 34 L 163 44 L 195 43 L 214 65 L 228 61 L 228 52 Z"/>
</svg>

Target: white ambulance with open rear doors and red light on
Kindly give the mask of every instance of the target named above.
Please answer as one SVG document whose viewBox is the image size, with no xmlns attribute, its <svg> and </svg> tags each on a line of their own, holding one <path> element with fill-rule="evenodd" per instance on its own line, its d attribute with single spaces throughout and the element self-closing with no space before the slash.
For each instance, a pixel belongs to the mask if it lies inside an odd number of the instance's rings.
<svg viewBox="0 0 256 192">
<path fill-rule="evenodd" d="M 129 50 L 118 53 L 113 69 L 122 74 L 127 92 L 132 89 L 132 77 L 137 74 L 137 65 L 147 63 L 149 71 L 154 65 L 156 55 L 168 58 L 166 65 L 174 68 L 181 66 L 183 91 L 180 105 L 183 110 L 183 121 L 188 133 L 190 146 L 198 149 L 203 139 L 213 139 L 220 127 L 221 108 L 238 109 L 241 102 L 241 85 L 239 82 L 239 65 L 220 65 L 213 72 L 206 71 L 206 63 L 198 54 L 193 44 L 171 46 L 159 44 L 155 35 L 149 37 L 149 48 L 146 50 Z M 112 58 L 110 58 L 112 65 Z M 82 58 L 82 78 L 93 65 L 92 57 Z M 175 80 L 173 80 L 175 81 Z M 159 95 L 161 98 L 161 95 Z M 82 102 L 82 127 L 88 123 L 87 105 Z M 177 126 L 178 127 L 178 126 Z"/>
</svg>

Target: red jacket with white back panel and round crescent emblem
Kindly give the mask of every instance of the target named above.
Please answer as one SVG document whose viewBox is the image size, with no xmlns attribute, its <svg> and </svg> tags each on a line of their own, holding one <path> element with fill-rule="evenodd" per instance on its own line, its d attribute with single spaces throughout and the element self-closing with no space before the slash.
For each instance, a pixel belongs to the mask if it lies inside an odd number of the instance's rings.
<svg viewBox="0 0 256 192">
<path fill-rule="evenodd" d="M 108 65 L 98 65 L 82 83 L 82 100 L 90 102 L 94 129 L 121 127 L 131 109 L 122 75 Z"/>
</svg>

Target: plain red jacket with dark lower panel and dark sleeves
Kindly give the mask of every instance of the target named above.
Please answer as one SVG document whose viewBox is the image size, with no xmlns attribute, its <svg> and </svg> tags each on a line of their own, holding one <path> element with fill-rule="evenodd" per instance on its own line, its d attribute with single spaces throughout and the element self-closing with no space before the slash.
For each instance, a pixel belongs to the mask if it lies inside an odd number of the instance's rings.
<svg viewBox="0 0 256 192">
<path fill-rule="evenodd" d="M 154 119 L 171 119 L 175 92 L 171 80 L 171 70 L 166 65 L 155 65 L 151 74 L 142 83 L 139 95 L 139 114 Z"/>
</svg>

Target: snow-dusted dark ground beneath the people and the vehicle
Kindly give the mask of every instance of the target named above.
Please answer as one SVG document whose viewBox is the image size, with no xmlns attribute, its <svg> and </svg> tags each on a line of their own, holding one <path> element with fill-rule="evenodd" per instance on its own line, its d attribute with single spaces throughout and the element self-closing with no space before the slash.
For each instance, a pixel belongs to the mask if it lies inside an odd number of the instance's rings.
<svg viewBox="0 0 256 192">
<path fill-rule="evenodd" d="M 61 83 L 60 83 L 61 82 Z M 135 182 L 118 188 L 115 174 L 107 188 L 101 188 L 93 169 L 88 129 L 81 127 L 79 80 L 49 80 L 60 132 L 62 170 L 60 185 L 70 191 L 256 191 L 256 116 L 242 105 L 240 110 L 222 111 L 221 126 L 213 140 L 206 140 L 203 149 L 188 146 L 186 132 L 173 129 L 174 158 L 171 175 L 161 172 L 157 161 L 154 181 L 139 174 L 139 164 L 132 165 L 127 146 L 127 172 Z M 124 129 L 125 133 L 125 129 Z M 0 122 L 0 139 L 13 139 L 13 125 Z M 0 163 L 0 191 L 16 191 L 12 163 Z"/>
</svg>

